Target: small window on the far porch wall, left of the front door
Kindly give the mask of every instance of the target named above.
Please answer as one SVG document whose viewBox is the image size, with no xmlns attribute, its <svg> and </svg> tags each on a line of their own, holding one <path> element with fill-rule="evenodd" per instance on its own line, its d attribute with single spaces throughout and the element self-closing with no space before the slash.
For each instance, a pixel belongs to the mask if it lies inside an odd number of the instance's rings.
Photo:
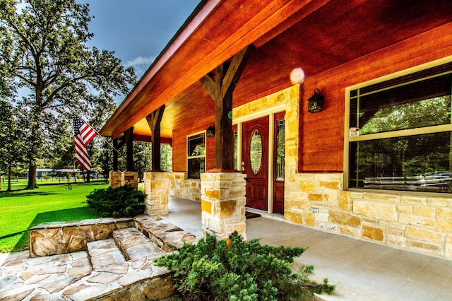
<svg viewBox="0 0 452 301">
<path fill-rule="evenodd" d="M 206 134 L 187 138 L 187 172 L 189 179 L 201 179 L 206 171 Z"/>
</svg>

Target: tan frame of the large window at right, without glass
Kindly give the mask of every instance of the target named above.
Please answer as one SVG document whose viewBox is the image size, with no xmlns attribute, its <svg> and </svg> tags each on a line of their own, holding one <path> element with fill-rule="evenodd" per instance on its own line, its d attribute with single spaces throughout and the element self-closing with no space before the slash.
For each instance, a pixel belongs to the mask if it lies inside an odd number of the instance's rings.
<svg viewBox="0 0 452 301">
<path fill-rule="evenodd" d="M 379 78 L 371 79 L 370 81 L 364 81 L 362 83 L 357 83 L 356 85 L 351 85 L 345 88 L 345 121 L 344 121 L 344 153 L 343 153 L 343 180 L 344 180 L 344 189 L 350 191 L 367 191 L 367 192 L 377 192 L 384 193 L 385 191 L 391 191 L 391 193 L 396 192 L 397 194 L 428 194 L 432 196 L 434 194 L 438 196 L 446 196 L 451 193 L 447 192 L 427 192 L 427 191 L 409 191 L 409 190 L 389 190 L 389 189 L 371 189 L 364 187 L 349 187 L 350 183 L 350 142 L 356 141 L 371 141 L 382 138 L 396 138 L 402 136 L 415 136 L 415 135 L 424 135 L 424 134 L 435 134 L 440 132 L 452 131 L 452 122 L 451 124 L 442 124 L 436 126 L 427 126 L 421 128 L 414 129 L 403 129 L 398 131 L 384 131 L 381 133 L 375 134 L 365 134 L 362 136 L 350 136 L 350 91 L 357 90 L 359 88 L 364 88 L 369 85 L 374 85 L 377 83 L 382 83 L 383 81 L 389 81 L 394 78 L 399 78 L 401 76 L 406 76 L 408 74 L 416 73 L 419 71 L 423 71 L 426 69 L 434 68 L 436 66 L 441 66 L 443 64 L 448 64 L 452 62 L 452 56 L 444 57 L 442 59 L 437 59 L 435 61 L 430 61 L 426 64 L 420 64 L 418 66 L 414 66 L 409 69 L 405 69 L 402 71 L 398 71 L 395 73 L 388 74 L 386 76 L 381 76 Z M 452 73 L 452 71 L 450 72 Z M 439 76 L 440 73 L 435 76 Z M 422 78 L 424 80 L 425 78 Z M 393 87 L 391 87 L 393 88 Z M 452 91 L 451 91 L 452 93 Z M 359 107 L 357 108 L 359 110 Z"/>
</svg>

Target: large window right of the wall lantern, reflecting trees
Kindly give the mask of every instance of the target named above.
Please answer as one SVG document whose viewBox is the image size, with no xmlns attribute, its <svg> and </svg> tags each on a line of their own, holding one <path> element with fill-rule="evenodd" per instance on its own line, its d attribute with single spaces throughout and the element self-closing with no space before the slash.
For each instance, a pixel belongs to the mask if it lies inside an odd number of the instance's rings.
<svg viewBox="0 0 452 301">
<path fill-rule="evenodd" d="M 452 63 L 347 91 L 348 187 L 452 192 Z"/>
</svg>

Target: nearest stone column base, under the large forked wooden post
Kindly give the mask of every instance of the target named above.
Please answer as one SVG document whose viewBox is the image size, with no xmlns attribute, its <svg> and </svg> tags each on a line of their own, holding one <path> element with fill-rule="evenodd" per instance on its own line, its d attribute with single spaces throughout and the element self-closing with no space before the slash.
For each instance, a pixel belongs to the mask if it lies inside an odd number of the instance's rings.
<svg viewBox="0 0 452 301">
<path fill-rule="evenodd" d="M 245 176 L 240 172 L 201 174 L 203 234 L 222 240 L 237 231 L 246 240 Z"/>
</svg>

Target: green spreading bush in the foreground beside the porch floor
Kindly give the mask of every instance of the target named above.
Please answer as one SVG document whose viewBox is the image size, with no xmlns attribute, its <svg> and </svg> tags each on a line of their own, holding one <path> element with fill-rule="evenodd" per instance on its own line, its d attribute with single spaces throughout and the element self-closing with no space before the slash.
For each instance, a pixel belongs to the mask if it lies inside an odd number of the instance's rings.
<svg viewBox="0 0 452 301">
<path fill-rule="evenodd" d="M 311 300 L 314 293 L 332 293 L 335 285 L 311 281 L 313 266 L 292 272 L 300 247 L 244 242 L 234 232 L 217 242 L 207 235 L 198 244 L 184 244 L 179 253 L 160 257 L 157 266 L 174 271 L 184 300 Z"/>
</svg>

